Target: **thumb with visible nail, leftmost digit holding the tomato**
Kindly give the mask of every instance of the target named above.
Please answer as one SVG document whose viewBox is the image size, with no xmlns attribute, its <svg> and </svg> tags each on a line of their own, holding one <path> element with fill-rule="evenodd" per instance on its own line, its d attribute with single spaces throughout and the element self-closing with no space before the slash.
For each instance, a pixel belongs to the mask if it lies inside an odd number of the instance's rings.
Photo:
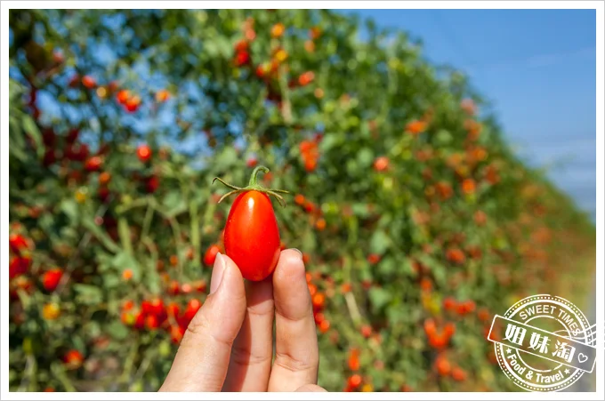
<svg viewBox="0 0 605 401">
<path fill-rule="evenodd" d="M 187 327 L 160 391 L 221 391 L 245 312 L 244 279 L 238 266 L 218 253 L 210 295 Z"/>
</svg>

